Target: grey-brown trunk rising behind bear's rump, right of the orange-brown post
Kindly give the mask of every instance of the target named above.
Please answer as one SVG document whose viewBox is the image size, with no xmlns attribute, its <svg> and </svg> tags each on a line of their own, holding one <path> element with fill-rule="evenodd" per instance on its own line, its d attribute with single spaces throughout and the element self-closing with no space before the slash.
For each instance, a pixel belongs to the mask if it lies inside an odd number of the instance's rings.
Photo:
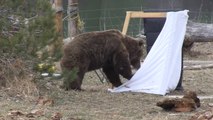
<svg viewBox="0 0 213 120">
<path fill-rule="evenodd" d="M 68 35 L 70 38 L 75 37 L 80 33 L 78 28 L 79 10 L 78 0 L 68 0 Z"/>
</svg>

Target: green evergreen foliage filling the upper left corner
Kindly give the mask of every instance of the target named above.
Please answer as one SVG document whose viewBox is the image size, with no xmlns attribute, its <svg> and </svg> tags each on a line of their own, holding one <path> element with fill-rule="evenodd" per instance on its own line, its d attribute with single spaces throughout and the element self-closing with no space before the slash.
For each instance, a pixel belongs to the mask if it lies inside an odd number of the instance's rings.
<svg viewBox="0 0 213 120">
<path fill-rule="evenodd" d="M 57 37 L 49 0 L 0 1 L 0 54 L 35 56 Z"/>
</svg>

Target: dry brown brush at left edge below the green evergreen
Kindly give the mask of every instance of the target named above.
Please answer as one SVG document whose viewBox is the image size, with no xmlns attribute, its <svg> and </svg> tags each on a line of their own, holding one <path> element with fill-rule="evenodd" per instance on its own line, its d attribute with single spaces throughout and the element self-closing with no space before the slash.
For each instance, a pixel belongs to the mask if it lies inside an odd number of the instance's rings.
<svg viewBox="0 0 213 120">
<path fill-rule="evenodd" d="M 18 56 L 3 55 L 0 59 L 0 81 L 2 89 L 8 96 L 25 97 L 38 95 L 33 82 L 32 64 L 30 60 Z"/>
</svg>

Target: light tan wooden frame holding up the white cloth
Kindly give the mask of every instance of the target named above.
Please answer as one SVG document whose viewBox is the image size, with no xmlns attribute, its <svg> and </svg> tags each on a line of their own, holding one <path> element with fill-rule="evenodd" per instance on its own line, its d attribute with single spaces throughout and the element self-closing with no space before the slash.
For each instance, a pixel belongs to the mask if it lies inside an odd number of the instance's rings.
<svg viewBox="0 0 213 120">
<path fill-rule="evenodd" d="M 164 18 L 166 12 L 143 12 L 143 11 L 127 11 L 122 33 L 125 35 L 128 30 L 131 18 Z"/>
</svg>

